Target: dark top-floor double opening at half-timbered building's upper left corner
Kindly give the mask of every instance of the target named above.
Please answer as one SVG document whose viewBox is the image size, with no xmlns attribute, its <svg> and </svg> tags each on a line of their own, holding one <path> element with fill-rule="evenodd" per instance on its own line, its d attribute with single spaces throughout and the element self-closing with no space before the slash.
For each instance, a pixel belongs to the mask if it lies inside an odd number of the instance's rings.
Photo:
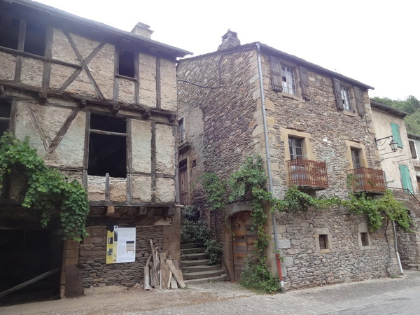
<svg viewBox="0 0 420 315">
<path fill-rule="evenodd" d="M 19 43 L 20 27 L 25 25 L 25 38 Z M 0 16 L 0 45 L 22 50 L 34 55 L 45 55 L 46 27 L 33 22 L 23 22 L 8 15 Z M 19 48 L 22 47 L 22 48 Z"/>
</svg>

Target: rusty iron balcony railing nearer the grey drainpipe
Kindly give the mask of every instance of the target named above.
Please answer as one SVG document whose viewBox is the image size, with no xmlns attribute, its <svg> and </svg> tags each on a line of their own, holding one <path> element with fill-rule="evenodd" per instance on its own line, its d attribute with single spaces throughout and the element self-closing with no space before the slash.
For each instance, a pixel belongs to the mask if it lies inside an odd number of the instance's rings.
<svg viewBox="0 0 420 315">
<path fill-rule="evenodd" d="M 286 164 L 288 168 L 288 186 L 297 186 L 311 190 L 328 188 L 325 162 L 297 158 L 287 161 Z"/>
</svg>

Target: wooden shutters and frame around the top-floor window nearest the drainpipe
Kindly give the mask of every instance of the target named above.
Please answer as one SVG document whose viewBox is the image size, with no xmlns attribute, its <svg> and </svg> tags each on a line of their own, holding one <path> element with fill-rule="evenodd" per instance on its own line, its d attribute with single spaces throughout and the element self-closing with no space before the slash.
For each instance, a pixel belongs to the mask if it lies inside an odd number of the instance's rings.
<svg viewBox="0 0 420 315">
<path fill-rule="evenodd" d="M 283 97 L 297 100 L 309 100 L 309 80 L 306 68 L 274 56 L 269 57 L 269 64 L 272 88 L 274 91 L 280 92 Z M 283 70 L 281 69 L 283 66 L 293 70 L 295 94 L 283 91 Z"/>
</svg>

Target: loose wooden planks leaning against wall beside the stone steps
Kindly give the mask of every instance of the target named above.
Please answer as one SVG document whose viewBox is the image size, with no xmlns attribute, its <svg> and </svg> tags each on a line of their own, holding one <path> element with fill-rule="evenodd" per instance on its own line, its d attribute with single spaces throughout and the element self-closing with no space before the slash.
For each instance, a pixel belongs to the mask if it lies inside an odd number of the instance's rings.
<svg viewBox="0 0 420 315">
<path fill-rule="evenodd" d="M 167 257 L 166 251 L 159 251 L 159 247 L 151 243 L 151 254 L 144 266 L 144 290 L 151 288 L 185 288 L 181 269 L 178 262 Z"/>
</svg>

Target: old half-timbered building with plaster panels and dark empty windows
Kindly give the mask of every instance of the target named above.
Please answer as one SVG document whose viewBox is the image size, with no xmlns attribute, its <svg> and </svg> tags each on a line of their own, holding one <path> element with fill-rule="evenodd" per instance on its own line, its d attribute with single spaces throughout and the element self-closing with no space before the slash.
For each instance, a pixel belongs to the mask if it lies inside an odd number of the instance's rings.
<svg viewBox="0 0 420 315">
<path fill-rule="evenodd" d="M 84 287 L 133 286 L 149 239 L 179 259 L 176 58 L 190 52 L 153 41 L 142 23 L 130 33 L 27 0 L 0 1 L 0 25 L 1 132 L 28 136 L 47 165 L 83 183 L 91 209 L 90 236 L 62 241 L 56 222 L 41 229 L 22 196 L 3 191 L 0 291 L 55 267 L 25 290 L 61 283 L 64 293 L 80 273 Z M 113 260 L 115 228 L 129 258 Z"/>
</svg>

